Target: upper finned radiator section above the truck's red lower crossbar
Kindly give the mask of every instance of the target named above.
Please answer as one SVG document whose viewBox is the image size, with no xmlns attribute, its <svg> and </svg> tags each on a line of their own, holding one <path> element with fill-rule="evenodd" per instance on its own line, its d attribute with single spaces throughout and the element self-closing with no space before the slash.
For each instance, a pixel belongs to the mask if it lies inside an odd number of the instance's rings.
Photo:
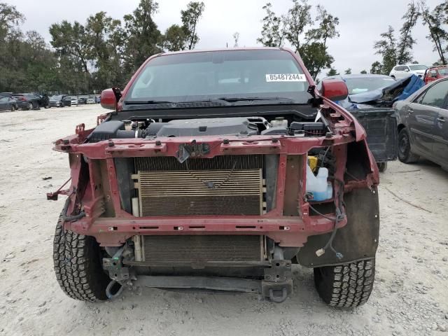
<svg viewBox="0 0 448 336">
<path fill-rule="evenodd" d="M 135 158 L 140 216 L 260 215 L 262 155 Z"/>
</svg>

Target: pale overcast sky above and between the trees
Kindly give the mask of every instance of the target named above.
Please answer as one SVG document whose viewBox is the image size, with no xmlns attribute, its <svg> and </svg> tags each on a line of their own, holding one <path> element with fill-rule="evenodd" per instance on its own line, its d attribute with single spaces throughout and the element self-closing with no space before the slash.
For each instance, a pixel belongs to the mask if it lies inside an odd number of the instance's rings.
<svg viewBox="0 0 448 336">
<path fill-rule="evenodd" d="M 139 0 L 3 0 L 15 5 L 25 14 L 27 21 L 23 30 L 36 30 L 42 34 L 45 41 L 50 42 L 48 27 L 54 22 L 69 20 L 85 23 L 89 15 L 106 11 L 113 18 L 123 18 L 124 14 L 132 13 L 137 8 Z M 221 48 L 226 43 L 233 46 L 232 35 L 239 32 L 240 46 L 257 45 L 260 36 L 261 20 L 265 15 L 262 6 L 267 0 L 203 0 L 205 10 L 198 34 L 200 43 L 197 48 Z M 401 17 L 405 13 L 406 4 L 410 0 L 309 0 L 309 3 L 323 5 L 332 15 L 339 18 L 340 37 L 330 41 L 329 52 L 335 57 L 334 67 L 338 71 L 351 68 L 353 73 L 366 69 L 376 60 L 372 48 L 379 34 L 391 25 L 398 31 L 402 25 Z M 159 0 L 160 10 L 155 15 L 155 22 L 160 31 L 165 31 L 169 25 L 180 23 L 180 11 L 186 7 L 189 0 Z M 277 15 L 286 13 L 290 8 L 290 0 L 270 0 Z M 427 0 L 433 8 L 442 0 Z M 433 64 L 438 57 L 433 52 L 433 45 L 426 38 L 427 28 L 418 25 L 413 36 L 414 59 L 423 64 Z"/>
</svg>

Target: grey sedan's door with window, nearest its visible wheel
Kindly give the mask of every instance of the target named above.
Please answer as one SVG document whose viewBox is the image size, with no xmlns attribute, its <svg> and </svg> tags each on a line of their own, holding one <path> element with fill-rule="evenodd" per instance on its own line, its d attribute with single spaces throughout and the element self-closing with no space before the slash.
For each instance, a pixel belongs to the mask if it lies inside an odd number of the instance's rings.
<svg viewBox="0 0 448 336">
<path fill-rule="evenodd" d="M 407 126 L 412 146 L 424 157 L 433 157 L 433 143 L 437 118 L 445 104 L 448 80 L 428 87 L 407 107 Z"/>
</svg>

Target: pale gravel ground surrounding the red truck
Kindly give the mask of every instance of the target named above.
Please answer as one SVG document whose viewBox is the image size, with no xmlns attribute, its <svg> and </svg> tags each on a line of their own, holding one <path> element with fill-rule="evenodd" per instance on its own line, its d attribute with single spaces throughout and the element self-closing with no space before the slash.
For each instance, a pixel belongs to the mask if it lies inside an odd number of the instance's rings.
<svg viewBox="0 0 448 336">
<path fill-rule="evenodd" d="M 69 167 L 51 143 L 78 123 L 94 126 L 101 110 L 0 113 L 0 335 L 448 336 L 448 173 L 430 162 L 393 162 L 381 174 L 377 276 L 363 307 L 326 307 L 302 267 L 283 304 L 148 288 L 99 304 L 66 297 L 52 269 L 64 197 L 49 202 L 45 193 L 66 181 Z"/>
</svg>

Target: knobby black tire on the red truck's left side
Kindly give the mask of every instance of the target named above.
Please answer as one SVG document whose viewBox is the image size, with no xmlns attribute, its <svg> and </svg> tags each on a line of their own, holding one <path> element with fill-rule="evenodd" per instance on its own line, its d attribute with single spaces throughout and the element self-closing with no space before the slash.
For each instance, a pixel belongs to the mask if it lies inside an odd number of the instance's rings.
<svg viewBox="0 0 448 336">
<path fill-rule="evenodd" d="M 99 245 L 94 237 L 69 230 L 64 235 L 62 215 L 59 216 L 53 241 L 53 261 L 57 282 L 66 295 L 89 302 L 107 299 L 106 286 L 111 280 L 103 272 L 99 255 Z"/>
</svg>

